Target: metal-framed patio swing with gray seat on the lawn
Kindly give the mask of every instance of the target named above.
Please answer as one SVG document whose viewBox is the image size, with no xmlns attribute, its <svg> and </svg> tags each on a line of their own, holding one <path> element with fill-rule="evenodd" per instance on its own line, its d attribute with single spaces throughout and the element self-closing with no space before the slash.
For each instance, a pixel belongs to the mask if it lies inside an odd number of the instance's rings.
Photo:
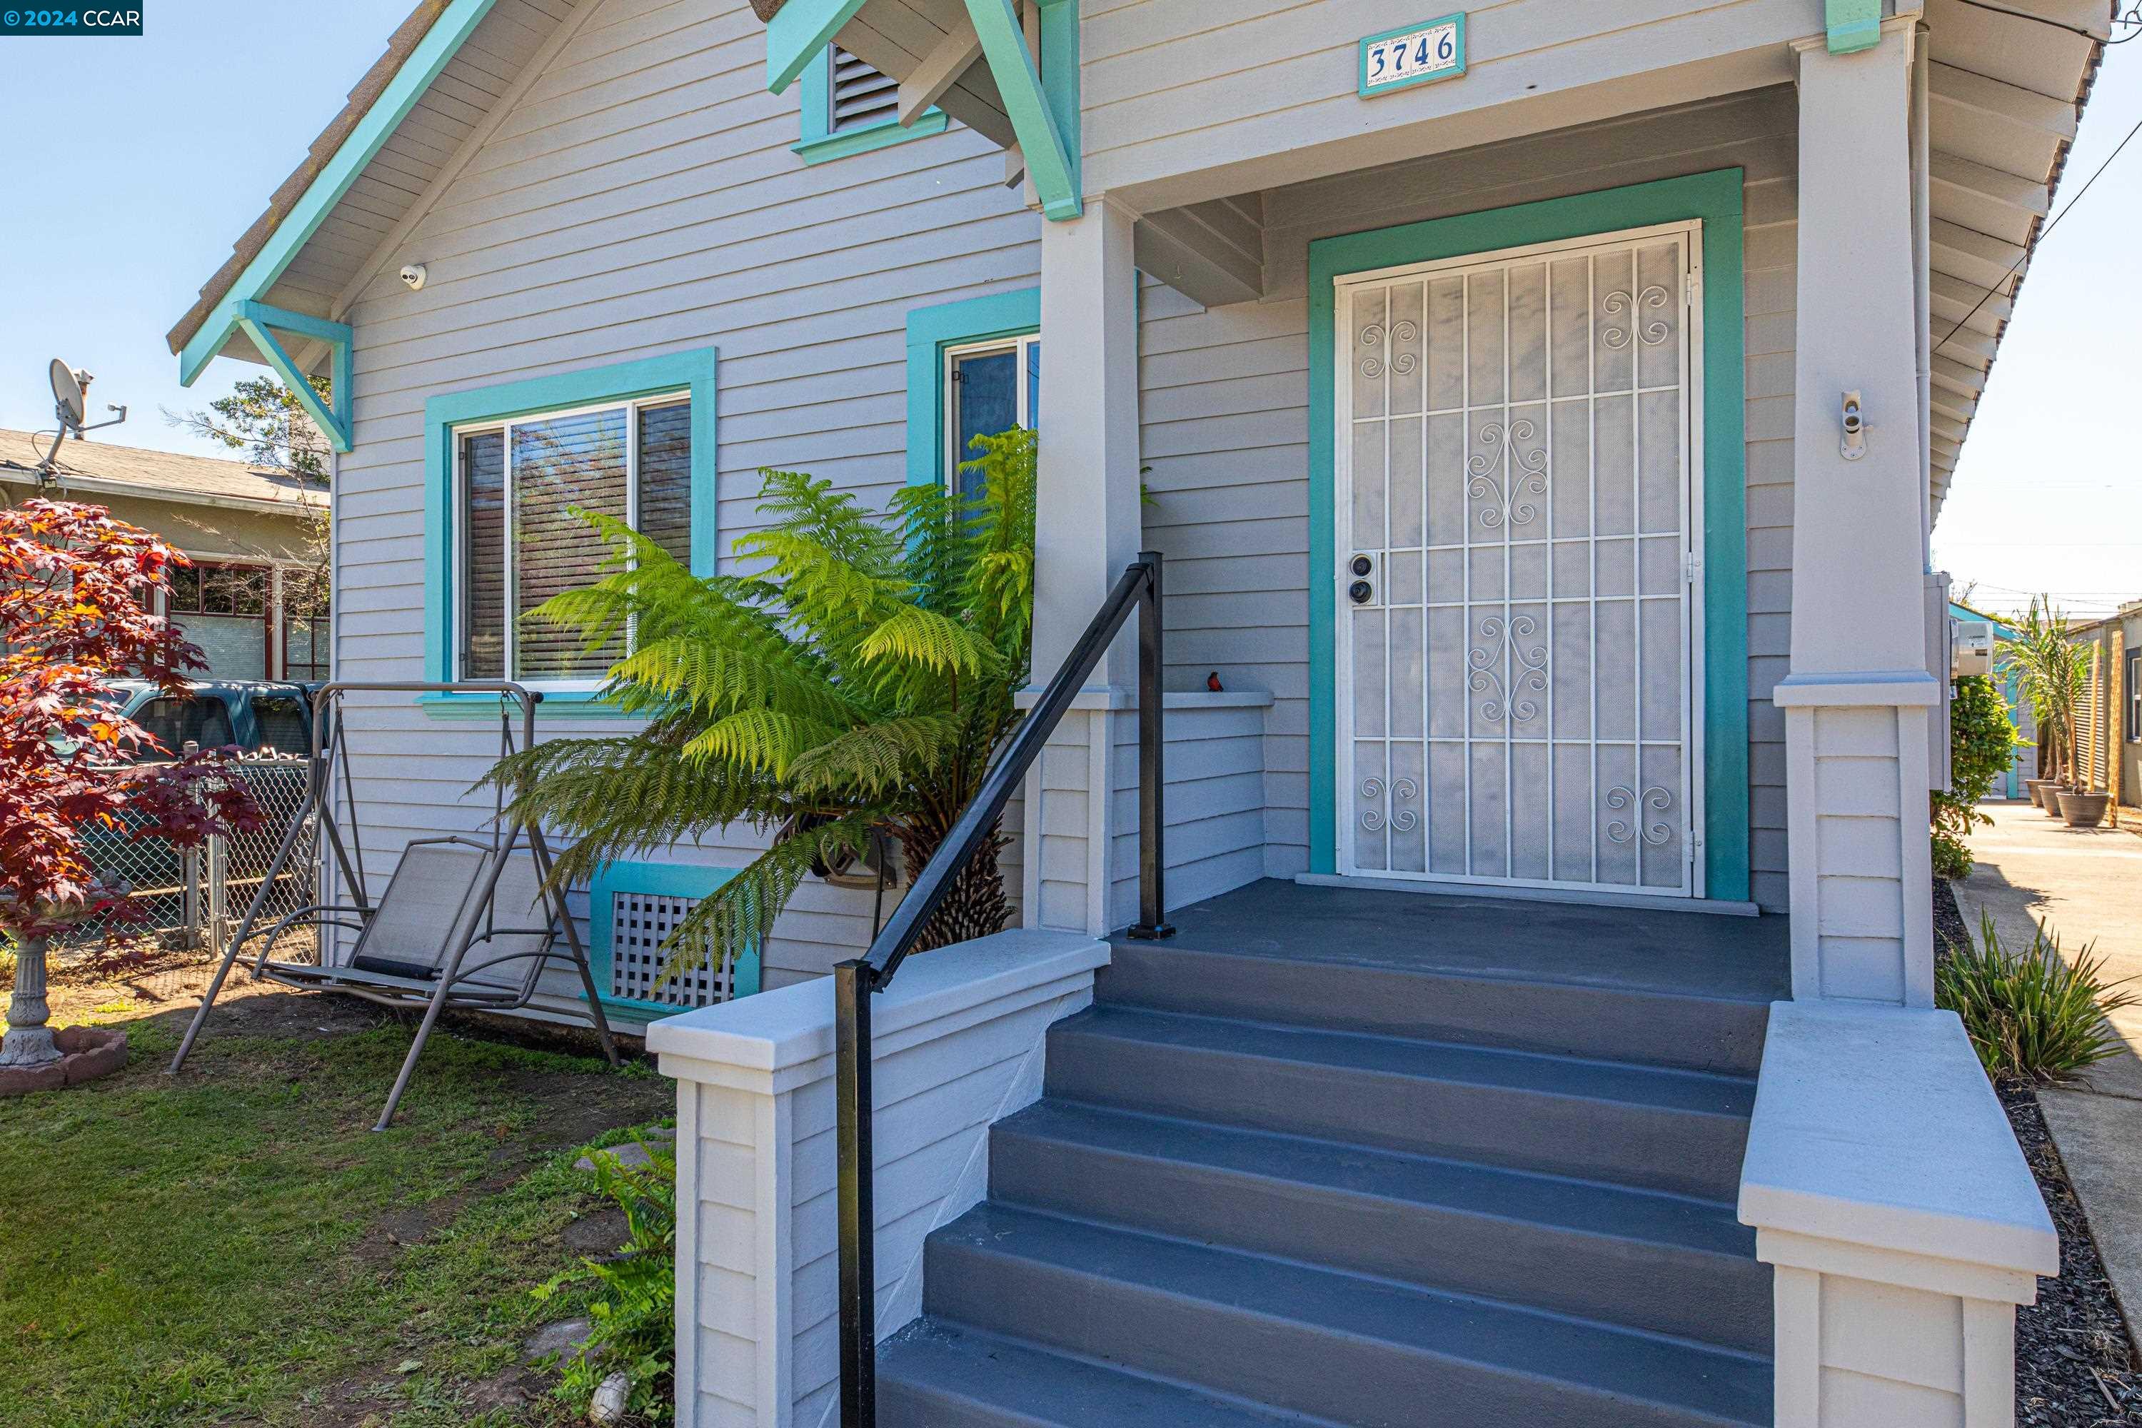
<svg viewBox="0 0 2142 1428">
<path fill-rule="evenodd" d="M 563 888 L 546 888 L 550 880 L 550 846 L 540 822 L 523 822 L 506 814 L 506 790 L 493 790 L 491 837 L 441 835 L 413 839 L 403 848 L 401 863 L 388 878 L 377 901 L 364 882 L 364 829 L 358 820 L 349 741 L 343 724 L 345 694 L 446 694 L 495 696 L 499 702 L 499 758 L 536 743 L 536 704 L 542 694 L 512 681 L 465 683 L 332 683 L 313 702 L 313 754 L 306 764 L 304 803 L 276 846 L 268 873 L 253 903 L 231 933 L 229 946 L 201 1006 L 193 1013 L 171 1075 L 178 1075 L 193 1051 L 208 1011 L 223 991 L 223 981 L 248 942 L 259 942 L 251 955 L 253 981 L 281 983 L 300 991 L 336 991 L 379 1006 L 422 1008 L 416 1040 L 403 1058 L 394 1090 L 373 1130 L 386 1130 L 394 1120 L 416 1062 L 424 1053 L 433 1026 L 443 1011 L 521 1011 L 536 1000 L 546 968 L 572 963 L 587 996 L 585 1019 L 602 1040 L 602 1053 L 619 1064 L 610 1023 L 602 1013 L 595 974 L 580 942 L 580 929 L 565 908 Z M 521 739 L 514 741 L 514 711 L 521 715 Z M 330 788 L 332 786 L 332 788 Z M 338 799 L 334 796 L 338 794 Z M 341 801 L 341 814 L 336 811 Z M 516 856 L 527 839 L 527 856 Z M 326 899 L 298 908 L 261 927 L 270 893 L 285 865 L 308 841 L 311 856 L 323 865 L 334 856 L 347 903 Z M 323 848 L 321 848 L 323 844 Z M 330 963 L 328 933 L 356 933 L 345 961 Z M 293 931 L 311 931 L 321 948 L 319 961 L 276 957 L 276 944 Z M 561 951 L 563 944 L 563 951 Z M 546 1008 L 550 1011 L 550 1008 Z"/>
</svg>

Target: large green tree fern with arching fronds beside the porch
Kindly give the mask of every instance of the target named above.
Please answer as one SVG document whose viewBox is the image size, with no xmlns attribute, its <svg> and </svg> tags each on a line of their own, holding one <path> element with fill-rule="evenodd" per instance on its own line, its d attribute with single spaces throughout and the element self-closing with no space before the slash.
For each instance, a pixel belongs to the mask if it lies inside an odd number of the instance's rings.
<svg viewBox="0 0 2142 1428">
<path fill-rule="evenodd" d="M 668 970 L 763 944 L 814 867 L 872 835 L 919 871 L 1020 721 L 1035 595 L 1035 435 L 977 437 L 975 495 L 908 486 L 891 516 L 831 482 L 763 471 L 769 525 L 737 542 L 754 574 L 700 578 L 606 516 L 604 576 L 531 619 L 587 649 L 630 634 L 604 698 L 647 726 L 501 760 L 512 814 L 570 848 L 559 882 L 726 824 L 786 831 L 670 936 Z M 1011 914 L 992 833 L 917 948 L 1000 931 Z"/>
</svg>

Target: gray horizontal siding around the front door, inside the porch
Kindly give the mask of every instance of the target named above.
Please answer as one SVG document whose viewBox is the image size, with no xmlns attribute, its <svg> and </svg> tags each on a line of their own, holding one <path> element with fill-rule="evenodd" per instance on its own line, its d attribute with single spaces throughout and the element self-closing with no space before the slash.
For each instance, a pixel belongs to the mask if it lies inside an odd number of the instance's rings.
<svg viewBox="0 0 2142 1428">
<path fill-rule="evenodd" d="M 1262 304 L 1197 308 L 1148 283 L 1148 542 L 1167 555 L 1170 685 L 1270 689 L 1266 871 L 1309 867 L 1309 242 L 1741 167 L 1748 268 L 1748 683 L 1754 895 L 1786 899 L 1784 674 L 1793 520 L 1795 101 L 1729 101 L 1268 191 Z"/>
</svg>

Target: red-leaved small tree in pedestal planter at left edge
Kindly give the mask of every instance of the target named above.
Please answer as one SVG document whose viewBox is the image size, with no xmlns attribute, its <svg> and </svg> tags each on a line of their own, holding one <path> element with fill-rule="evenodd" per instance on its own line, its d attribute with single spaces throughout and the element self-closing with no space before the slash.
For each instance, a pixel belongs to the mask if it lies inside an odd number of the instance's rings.
<svg viewBox="0 0 2142 1428">
<path fill-rule="evenodd" d="M 225 751 L 167 764 L 161 745 L 105 698 L 111 679 L 186 692 L 203 668 L 148 595 L 186 557 L 101 505 L 24 501 L 0 510 L 0 936 L 15 946 L 15 993 L 0 1038 L 0 1092 L 69 1085 L 126 1064 L 126 1038 L 47 1026 L 54 933 L 109 912 L 139 916 L 131 888 L 88 854 L 92 829 L 178 846 L 244 833 L 259 807 L 223 769 Z"/>
</svg>

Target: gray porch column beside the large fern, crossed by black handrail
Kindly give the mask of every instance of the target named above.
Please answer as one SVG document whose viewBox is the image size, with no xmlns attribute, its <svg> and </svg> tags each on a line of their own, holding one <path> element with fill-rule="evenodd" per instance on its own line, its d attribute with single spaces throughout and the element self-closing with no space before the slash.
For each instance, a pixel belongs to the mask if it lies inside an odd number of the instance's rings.
<svg viewBox="0 0 2142 1428">
<path fill-rule="evenodd" d="M 1035 687 L 1140 548 L 1135 218 L 1103 195 L 1080 218 L 1041 225 Z M 1026 779 L 1028 927 L 1099 933 L 1131 921 L 1135 880 L 1116 888 L 1112 854 L 1135 824 L 1131 803 L 1110 794 L 1135 788 L 1135 696 L 1137 642 L 1125 629 Z"/>
</svg>

